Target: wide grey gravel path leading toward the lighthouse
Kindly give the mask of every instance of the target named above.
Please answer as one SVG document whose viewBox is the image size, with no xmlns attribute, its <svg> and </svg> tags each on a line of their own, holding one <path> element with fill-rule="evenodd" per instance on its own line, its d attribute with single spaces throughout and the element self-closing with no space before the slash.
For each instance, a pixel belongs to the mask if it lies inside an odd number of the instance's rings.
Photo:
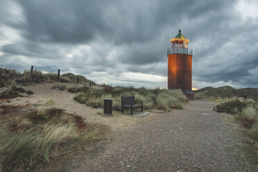
<svg viewBox="0 0 258 172">
<path fill-rule="evenodd" d="M 58 171 L 241 171 L 232 146 L 240 144 L 215 103 L 192 101 L 97 144 Z"/>
</svg>

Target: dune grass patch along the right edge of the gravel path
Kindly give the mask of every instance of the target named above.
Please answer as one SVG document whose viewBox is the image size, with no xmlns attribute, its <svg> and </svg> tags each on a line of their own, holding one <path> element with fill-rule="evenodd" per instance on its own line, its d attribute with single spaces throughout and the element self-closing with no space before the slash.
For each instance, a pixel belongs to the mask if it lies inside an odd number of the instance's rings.
<svg viewBox="0 0 258 172">
<path fill-rule="evenodd" d="M 221 100 L 214 110 L 234 114 L 244 126 L 250 128 L 253 134 L 258 135 L 258 102 L 245 98 L 227 98 Z"/>
</svg>

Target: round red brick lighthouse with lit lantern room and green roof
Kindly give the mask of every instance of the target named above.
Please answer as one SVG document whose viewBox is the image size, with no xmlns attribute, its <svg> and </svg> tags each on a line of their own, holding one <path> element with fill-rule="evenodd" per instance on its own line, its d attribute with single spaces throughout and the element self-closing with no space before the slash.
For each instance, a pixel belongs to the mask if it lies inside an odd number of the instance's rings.
<svg viewBox="0 0 258 172">
<path fill-rule="evenodd" d="M 188 40 L 181 34 L 170 40 L 172 47 L 168 49 L 168 89 L 182 89 L 182 92 L 193 100 L 191 91 L 191 61 L 193 50 L 188 48 Z"/>
</svg>

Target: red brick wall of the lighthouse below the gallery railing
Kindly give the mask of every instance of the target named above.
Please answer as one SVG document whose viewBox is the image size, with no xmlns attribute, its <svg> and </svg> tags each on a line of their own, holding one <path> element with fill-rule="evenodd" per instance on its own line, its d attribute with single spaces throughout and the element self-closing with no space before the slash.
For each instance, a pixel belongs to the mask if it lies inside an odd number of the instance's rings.
<svg viewBox="0 0 258 172">
<path fill-rule="evenodd" d="M 192 55 L 168 55 L 168 89 L 191 91 L 191 62 Z"/>
</svg>

